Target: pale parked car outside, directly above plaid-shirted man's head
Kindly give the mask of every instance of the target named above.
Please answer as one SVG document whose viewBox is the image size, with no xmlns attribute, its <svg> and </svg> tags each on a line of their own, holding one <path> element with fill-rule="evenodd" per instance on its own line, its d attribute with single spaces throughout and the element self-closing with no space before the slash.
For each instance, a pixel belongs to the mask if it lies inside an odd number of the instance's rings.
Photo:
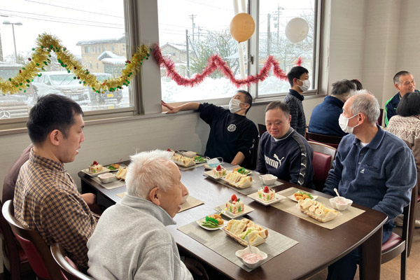
<svg viewBox="0 0 420 280">
<path fill-rule="evenodd" d="M 46 94 L 56 93 L 64 94 L 71 99 L 80 101 L 89 101 L 89 90 L 75 79 L 73 73 L 66 71 L 47 71 L 41 72 L 42 76 L 34 78 L 34 85 L 38 97 Z"/>
</svg>

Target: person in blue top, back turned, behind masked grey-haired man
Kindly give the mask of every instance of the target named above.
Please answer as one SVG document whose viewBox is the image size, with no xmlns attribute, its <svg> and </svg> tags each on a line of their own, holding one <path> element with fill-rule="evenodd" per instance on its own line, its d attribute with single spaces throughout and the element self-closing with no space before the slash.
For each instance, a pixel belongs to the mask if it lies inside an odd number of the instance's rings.
<svg viewBox="0 0 420 280">
<path fill-rule="evenodd" d="M 344 102 L 354 93 L 356 85 L 350 80 L 338 80 L 332 84 L 331 95 L 317 105 L 312 111 L 309 121 L 309 132 L 343 137 L 338 124 L 339 115 L 343 113 Z"/>
</svg>

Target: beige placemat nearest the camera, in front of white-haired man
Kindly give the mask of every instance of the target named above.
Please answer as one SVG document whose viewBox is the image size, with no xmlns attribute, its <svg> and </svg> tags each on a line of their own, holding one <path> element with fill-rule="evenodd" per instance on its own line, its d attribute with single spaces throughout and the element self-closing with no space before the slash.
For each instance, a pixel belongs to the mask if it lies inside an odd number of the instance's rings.
<svg viewBox="0 0 420 280">
<path fill-rule="evenodd" d="M 204 230 L 203 228 L 200 228 L 195 221 L 188 225 L 183 225 L 181 228 L 178 228 L 178 230 L 197 240 L 219 255 L 222 255 L 223 258 L 230 260 L 230 262 L 235 263 L 235 265 L 245 269 L 247 272 L 253 270 L 246 267 L 235 255 L 236 251 L 244 249 L 244 246 L 228 237 L 223 230 Z M 265 260 L 265 262 L 299 243 L 296 240 L 279 234 L 279 232 L 275 232 L 269 228 L 267 228 L 267 230 L 267 241 L 258 246 L 260 251 L 267 253 L 267 260 Z"/>
</svg>

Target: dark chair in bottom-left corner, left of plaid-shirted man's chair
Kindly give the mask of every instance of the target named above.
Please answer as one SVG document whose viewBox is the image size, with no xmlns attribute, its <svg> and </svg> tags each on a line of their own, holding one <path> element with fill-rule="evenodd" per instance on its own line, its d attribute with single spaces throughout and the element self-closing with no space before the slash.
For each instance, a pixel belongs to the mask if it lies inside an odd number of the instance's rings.
<svg viewBox="0 0 420 280">
<path fill-rule="evenodd" d="M 3 204 L 0 202 L 0 207 Z M 3 214 L 0 212 L 0 237 L 3 249 L 3 272 L 8 275 L 10 280 L 19 280 L 23 275 L 34 273 L 25 251 L 20 247 L 18 240 L 15 239 L 10 225 L 7 223 Z"/>
</svg>

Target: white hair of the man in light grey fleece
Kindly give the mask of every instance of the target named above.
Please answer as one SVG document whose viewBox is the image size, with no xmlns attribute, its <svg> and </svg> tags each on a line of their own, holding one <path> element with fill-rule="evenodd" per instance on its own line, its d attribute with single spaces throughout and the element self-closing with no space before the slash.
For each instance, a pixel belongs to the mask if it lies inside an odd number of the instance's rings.
<svg viewBox="0 0 420 280">
<path fill-rule="evenodd" d="M 169 190 L 174 184 L 169 173 L 172 153 L 155 150 L 137 153 L 130 158 L 132 162 L 127 167 L 127 194 L 147 200 L 149 193 L 155 187 L 163 191 Z"/>
</svg>

